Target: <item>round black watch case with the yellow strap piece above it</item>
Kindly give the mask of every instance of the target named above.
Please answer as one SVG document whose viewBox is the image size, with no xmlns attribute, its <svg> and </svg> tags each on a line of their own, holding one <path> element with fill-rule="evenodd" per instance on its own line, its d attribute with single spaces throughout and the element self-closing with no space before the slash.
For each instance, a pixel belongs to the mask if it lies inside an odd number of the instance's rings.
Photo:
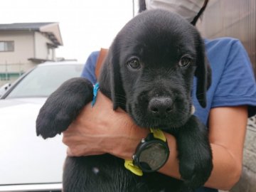
<svg viewBox="0 0 256 192">
<path fill-rule="evenodd" d="M 159 170 L 169 159 L 169 146 L 160 129 L 151 129 L 151 132 L 137 146 L 132 156 L 133 164 L 150 173 Z"/>
</svg>

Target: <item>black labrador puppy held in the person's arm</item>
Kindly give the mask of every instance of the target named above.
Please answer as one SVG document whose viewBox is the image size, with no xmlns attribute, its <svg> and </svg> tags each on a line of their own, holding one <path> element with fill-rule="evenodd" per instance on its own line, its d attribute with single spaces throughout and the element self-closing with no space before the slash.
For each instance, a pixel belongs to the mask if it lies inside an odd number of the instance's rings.
<svg viewBox="0 0 256 192">
<path fill-rule="evenodd" d="M 153 172 L 137 176 L 124 160 L 110 154 L 67 157 L 63 191 L 191 191 L 202 186 L 213 168 L 208 133 L 191 114 L 196 75 L 197 98 L 206 107 L 210 68 L 195 27 L 169 11 L 132 18 L 117 34 L 100 74 L 100 90 L 140 127 L 174 134 L 181 180 Z M 73 78 L 53 92 L 40 110 L 36 133 L 44 139 L 68 128 L 92 100 L 92 84 Z M 171 150 L 171 149 L 170 149 Z"/>
</svg>

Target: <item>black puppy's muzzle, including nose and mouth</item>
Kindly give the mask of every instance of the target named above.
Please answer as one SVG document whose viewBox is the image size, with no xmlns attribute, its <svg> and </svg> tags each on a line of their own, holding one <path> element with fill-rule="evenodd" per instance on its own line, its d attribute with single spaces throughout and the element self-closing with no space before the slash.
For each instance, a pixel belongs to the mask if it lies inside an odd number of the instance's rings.
<svg viewBox="0 0 256 192">
<path fill-rule="evenodd" d="M 184 98 L 153 97 L 128 104 L 127 112 L 140 127 L 171 130 L 181 127 L 191 116 Z"/>
</svg>

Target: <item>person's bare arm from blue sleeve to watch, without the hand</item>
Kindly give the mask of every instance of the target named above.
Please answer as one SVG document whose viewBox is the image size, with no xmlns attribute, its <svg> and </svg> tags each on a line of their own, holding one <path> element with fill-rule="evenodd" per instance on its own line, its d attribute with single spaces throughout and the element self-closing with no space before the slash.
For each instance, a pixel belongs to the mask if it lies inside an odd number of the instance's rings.
<svg viewBox="0 0 256 192">
<path fill-rule="evenodd" d="M 213 150 L 213 171 L 206 182 L 210 188 L 230 189 L 240 178 L 242 149 L 247 124 L 247 107 L 216 107 L 210 110 L 210 145 Z M 170 155 L 161 173 L 180 178 L 175 138 L 166 134 Z"/>
</svg>

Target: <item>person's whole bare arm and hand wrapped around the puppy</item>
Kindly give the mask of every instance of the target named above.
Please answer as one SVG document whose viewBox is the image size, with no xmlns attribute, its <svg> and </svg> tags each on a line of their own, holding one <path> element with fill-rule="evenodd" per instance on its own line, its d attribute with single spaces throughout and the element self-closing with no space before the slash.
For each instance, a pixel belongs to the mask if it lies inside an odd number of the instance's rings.
<svg viewBox="0 0 256 192">
<path fill-rule="evenodd" d="M 237 181 L 242 167 L 242 148 L 247 124 L 247 107 L 218 107 L 210 111 L 210 143 L 213 172 L 206 186 L 227 190 Z M 63 134 L 68 155 L 83 156 L 109 153 L 132 159 L 137 144 L 148 134 L 137 127 L 122 110 L 113 111 L 112 102 L 99 92 L 94 107 L 87 105 Z M 166 134 L 169 161 L 159 171 L 180 178 L 176 139 Z"/>
</svg>

